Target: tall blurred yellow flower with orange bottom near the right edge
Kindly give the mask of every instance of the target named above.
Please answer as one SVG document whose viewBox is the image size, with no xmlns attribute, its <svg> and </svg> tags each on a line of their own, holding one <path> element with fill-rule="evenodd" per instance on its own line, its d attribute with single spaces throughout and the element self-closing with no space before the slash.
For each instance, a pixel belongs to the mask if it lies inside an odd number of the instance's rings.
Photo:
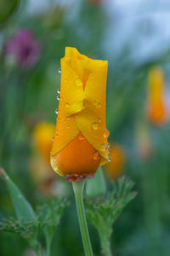
<svg viewBox="0 0 170 256">
<path fill-rule="evenodd" d="M 164 125 L 167 121 L 167 105 L 165 100 L 165 78 L 160 67 L 152 67 L 148 82 L 148 116 L 154 125 Z"/>
</svg>

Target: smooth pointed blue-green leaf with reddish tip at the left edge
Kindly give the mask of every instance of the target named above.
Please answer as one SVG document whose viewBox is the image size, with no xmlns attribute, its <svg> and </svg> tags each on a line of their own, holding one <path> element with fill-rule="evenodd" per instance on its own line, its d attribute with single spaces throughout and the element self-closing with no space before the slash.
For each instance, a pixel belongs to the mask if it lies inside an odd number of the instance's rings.
<svg viewBox="0 0 170 256">
<path fill-rule="evenodd" d="M 18 220 L 22 222 L 36 218 L 31 204 L 26 200 L 25 196 L 20 192 L 20 189 L 2 168 L 0 168 L 0 175 L 7 184 L 8 192 L 13 201 L 14 211 L 16 212 Z"/>
</svg>

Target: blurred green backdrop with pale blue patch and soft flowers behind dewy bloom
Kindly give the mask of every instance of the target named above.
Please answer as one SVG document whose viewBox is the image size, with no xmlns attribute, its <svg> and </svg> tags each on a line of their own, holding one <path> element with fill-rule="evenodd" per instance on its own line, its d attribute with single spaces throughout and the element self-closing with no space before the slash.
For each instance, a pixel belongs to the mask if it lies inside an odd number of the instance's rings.
<svg viewBox="0 0 170 256">
<path fill-rule="evenodd" d="M 72 195 L 49 165 L 65 46 L 109 61 L 107 183 L 126 174 L 137 197 L 113 227 L 116 256 L 169 255 L 170 2 L 168 0 L 1 0 L 0 166 L 33 207 Z M 0 181 L 0 219 L 14 216 Z M 56 230 L 52 255 L 83 255 L 75 204 Z M 92 226 L 94 253 L 99 237 Z M 10 244 L 10 246 L 8 246 Z M 0 231 L 1 255 L 33 256 L 26 241 Z"/>
</svg>

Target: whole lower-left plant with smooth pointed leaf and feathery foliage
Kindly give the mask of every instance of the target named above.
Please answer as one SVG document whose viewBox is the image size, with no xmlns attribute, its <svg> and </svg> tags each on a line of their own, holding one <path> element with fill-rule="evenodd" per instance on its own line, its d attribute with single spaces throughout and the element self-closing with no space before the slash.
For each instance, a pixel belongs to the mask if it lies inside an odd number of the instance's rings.
<svg viewBox="0 0 170 256">
<path fill-rule="evenodd" d="M 0 230 L 8 231 L 21 236 L 28 241 L 38 256 L 50 256 L 51 242 L 59 219 L 68 207 L 66 199 L 53 199 L 34 212 L 31 204 L 26 200 L 20 189 L 14 184 L 8 174 L 0 168 L 0 176 L 7 184 L 9 195 L 13 201 L 17 218 L 3 218 L 0 222 Z M 46 247 L 42 247 L 38 240 L 40 234 L 44 234 Z"/>
</svg>

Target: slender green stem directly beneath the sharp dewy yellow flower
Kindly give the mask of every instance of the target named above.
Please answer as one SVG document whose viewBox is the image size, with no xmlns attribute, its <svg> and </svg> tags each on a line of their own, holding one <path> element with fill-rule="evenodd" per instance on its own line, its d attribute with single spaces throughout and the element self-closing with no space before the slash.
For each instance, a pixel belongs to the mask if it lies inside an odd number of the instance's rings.
<svg viewBox="0 0 170 256">
<path fill-rule="evenodd" d="M 88 224 L 86 221 L 86 215 L 84 211 L 84 205 L 83 205 L 83 189 L 84 189 L 84 183 L 85 181 L 78 181 L 73 182 L 72 187 L 74 190 L 76 202 L 77 202 L 77 213 L 78 213 L 78 219 L 79 219 L 79 225 L 82 235 L 82 243 L 84 247 L 84 252 L 86 256 L 94 256 L 94 253 L 92 251 L 91 242 L 88 234 Z"/>
</svg>

